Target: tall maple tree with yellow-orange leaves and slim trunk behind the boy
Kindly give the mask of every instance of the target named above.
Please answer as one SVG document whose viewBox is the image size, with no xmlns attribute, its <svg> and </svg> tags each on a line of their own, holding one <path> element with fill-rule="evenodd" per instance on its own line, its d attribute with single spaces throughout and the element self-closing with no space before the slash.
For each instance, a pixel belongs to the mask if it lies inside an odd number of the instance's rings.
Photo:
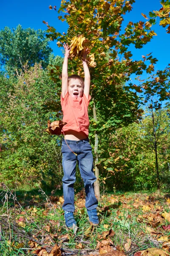
<svg viewBox="0 0 170 256">
<path fill-rule="evenodd" d="M 54 27 L 43 21 L 48 26 L 48 38 L 57 40 L 58 46 L 62 46 L 64 42 L 71 44 L 73 38 L 82 36 L 88 40 L 91 54 L 95 57 L 96 67 L 90 68 L 92 101 L 89 117 L 97 177 L 95 192 L 98 197 L 100 193 L 97 162 L 98 152 L 102 149 L 98 142 L 107 138 L 116 128 L 141 119 L 143 110 L 139 103 L 142 103 L 142 96 L 137 93 L 143 93 L 142 85 L 130 83 L 130 76 L 154 72 L 154 64 L 157 61 L 151 54 L 139 61 L 133 60 L 133 53 L 128 50 L 131 44 L 138 49 L 142 48 L 156 35 L 152 30 L 156 23 L 156 13 L 146 22 L 129 21 L 125 29 L 122 29 L 124 15 L 132 10 L 134 2 L 135 0 L 63 0 L 58 18 L 67 21 L 69 29 L 66 34 L 57 32 Z M 53 9 L 52 6 L 49 8 Z M 80 62 L 79 55 L 74 56 L 68 71 L 83 76 Z M 148 90 L 151 90 L 150 83 Z"/>
</svg>

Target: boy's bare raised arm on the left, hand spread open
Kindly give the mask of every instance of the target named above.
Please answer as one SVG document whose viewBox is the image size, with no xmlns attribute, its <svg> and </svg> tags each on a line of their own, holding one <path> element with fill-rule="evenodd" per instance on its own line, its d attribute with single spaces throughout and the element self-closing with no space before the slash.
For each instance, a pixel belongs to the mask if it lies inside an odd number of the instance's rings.
<svg viewBox="0 0 170 256">
<path fill-rule="evenodd" d="M 71 47 L 68 44 L 63 44 L 65 49 L 64 62 L 62 65 L 62 97 L 68 92 L 68 58 L 70 55 Z"/>
</svg>

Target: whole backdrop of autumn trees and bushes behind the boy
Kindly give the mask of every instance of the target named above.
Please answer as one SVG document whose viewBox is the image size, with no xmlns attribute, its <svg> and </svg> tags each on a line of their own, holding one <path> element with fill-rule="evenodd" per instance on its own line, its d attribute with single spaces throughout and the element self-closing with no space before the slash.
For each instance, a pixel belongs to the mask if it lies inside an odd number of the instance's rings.
<svg viewBox="0 0 170 256">
<path fill-rule="evenodd" d="M 57 20 L 59 6 L 50 4 L 47 12 Z M 133 5 L 134 0 L 63 1 L 57 22 L 65 22 L 64 29 L 44 17 L 46 32 L 22 24 L 0 31 L 0 182 L 60 189 L 61 137 L 45 128 L 48 119 L 62 118 L 63 55 L 52 53 L 50 41 L 62 47 L 84 35 L 96 62 L 90 67 L 89 107 L 96 194 L 99 188 L 170 189 L 170 1 L 132 17 Z M 70 61 L 70 74 L 83 76 L 80 62 L 79 56 Z M 77 174 L 76 189 L 82 187 Z"/>
</svg>

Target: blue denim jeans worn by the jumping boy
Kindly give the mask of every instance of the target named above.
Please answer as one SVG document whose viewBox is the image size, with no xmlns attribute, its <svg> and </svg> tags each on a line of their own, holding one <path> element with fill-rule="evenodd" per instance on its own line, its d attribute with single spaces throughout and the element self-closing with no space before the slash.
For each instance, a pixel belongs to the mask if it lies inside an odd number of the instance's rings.
<svg viewBox="0 0 170 256">
<path fill-rule="evenodd" d="M 62 141 L 62 167 L 64 176 L 62 178 L 64 204 L 62 209 L 74 212 L 74 182 L 76 181 L 76 163 L 79 165 L 80 175 L 85 186 L 85 207 L 88 210 L 95 209 L 98 201 L 94 194 L 94 182 L 96 177 L 93 172 L 93 155 L 89 140 L 66 140 L 69 147 L 77 156 L 71 152 L 65 140 Z"/>
</svg>

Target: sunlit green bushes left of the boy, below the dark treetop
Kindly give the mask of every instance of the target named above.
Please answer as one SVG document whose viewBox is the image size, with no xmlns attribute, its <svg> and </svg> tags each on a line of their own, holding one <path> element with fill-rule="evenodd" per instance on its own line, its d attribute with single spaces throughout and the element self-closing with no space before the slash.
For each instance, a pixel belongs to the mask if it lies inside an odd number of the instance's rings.
<svg viewBox="0 0 170 256">
<path fill-rule="evenodd" d="M 47 120 L 56 119 L 55 111 L 61 115 L 59 86 L 40 64 L 17 80 L 5 76 L 0 80 L 0 180 L 18 185 L 60 184 L 61 138 L 45 132 Z"/>
</svg>

